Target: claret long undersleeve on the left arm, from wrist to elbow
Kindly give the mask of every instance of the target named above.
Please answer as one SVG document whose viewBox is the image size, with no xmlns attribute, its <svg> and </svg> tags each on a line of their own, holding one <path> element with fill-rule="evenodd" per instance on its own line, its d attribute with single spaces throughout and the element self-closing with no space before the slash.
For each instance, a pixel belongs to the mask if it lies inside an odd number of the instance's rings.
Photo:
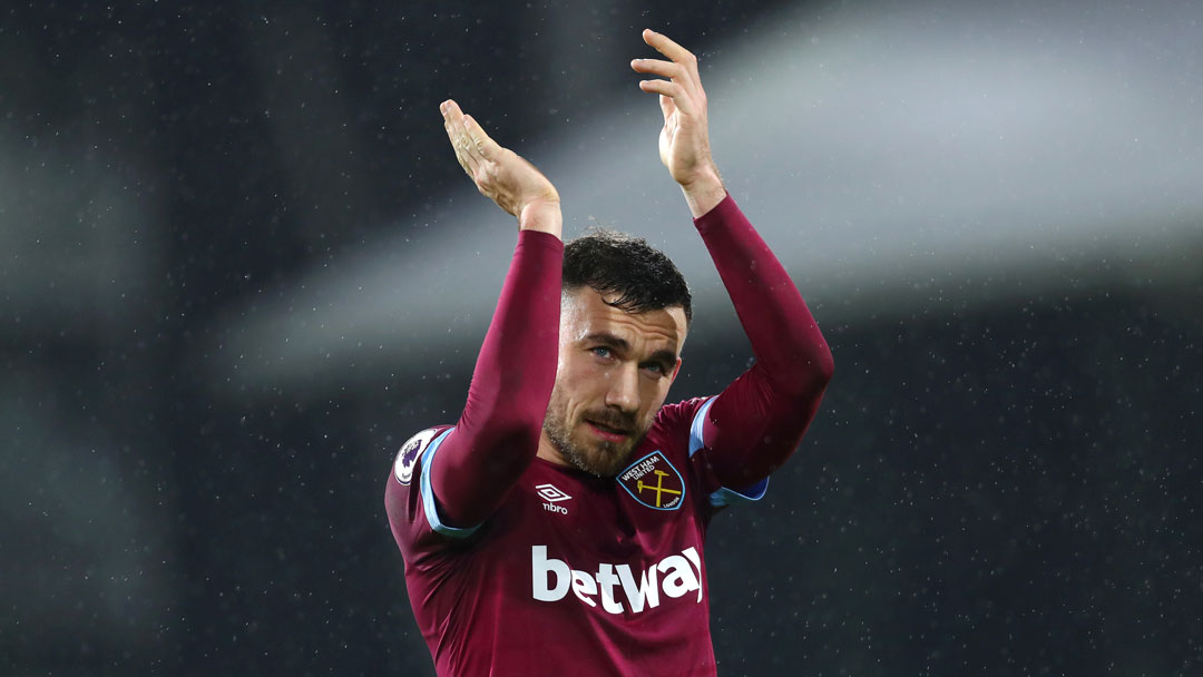
<svg viewBox="0 0 1203 677">
<path fill-rule="evenodd" d="M 449 523 L 479 523 L 538 450 L 556 380 L 563 243 L 523 230 L 456 430 L 431 476 Z"/>
</svg>

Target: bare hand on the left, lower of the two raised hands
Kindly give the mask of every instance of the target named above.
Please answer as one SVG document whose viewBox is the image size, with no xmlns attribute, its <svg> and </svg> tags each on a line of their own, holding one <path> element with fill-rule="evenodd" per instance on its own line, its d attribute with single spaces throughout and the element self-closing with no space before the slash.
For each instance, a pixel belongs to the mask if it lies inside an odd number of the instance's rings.
<svg viewBox="0 0 1203 677">
<path fill-rule="evenodd" d="M 498 146 L 455 101 L 444 101 L 439 109 L 456 160 L 472 177 L 476 190 L 517 216 L 520 228 L 541 230 L 559 237 L 559 192 L 547 177 L 517 153 Z"/>
</svg>

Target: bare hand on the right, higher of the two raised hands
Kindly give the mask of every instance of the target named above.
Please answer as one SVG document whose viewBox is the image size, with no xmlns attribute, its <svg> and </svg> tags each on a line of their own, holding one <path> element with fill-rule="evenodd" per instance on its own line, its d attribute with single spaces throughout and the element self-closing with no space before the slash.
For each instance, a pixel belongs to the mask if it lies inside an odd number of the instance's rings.
<svg viewBox="0 0 1203 677">
<path fill-rule="evenodd" d="M 706 117 L 706 93 L 698 75 L 698 58 L 692 52 L 651 29 L 644 29 L 644 42 L 668 57 L 634 59 L 630 67 L 669 79 L 645 79 L 644 91 L 659 95 L 664 127 L 660 129 L 660 161 L 672 179 L 681 184 L 695 216 L 709 212 L 725 197 L 718 168 L 710 154 L 710 123 Z M 698 213 L 700 210 L 700 213 Z"/>
</svg>

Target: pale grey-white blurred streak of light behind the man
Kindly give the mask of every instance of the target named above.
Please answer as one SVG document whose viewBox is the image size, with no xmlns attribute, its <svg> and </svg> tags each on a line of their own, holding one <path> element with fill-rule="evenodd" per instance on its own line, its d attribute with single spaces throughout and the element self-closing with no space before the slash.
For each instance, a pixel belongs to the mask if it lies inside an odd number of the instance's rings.
<svg viewBox="0 0 1203 677">
<path fill-rule="evenodd" d="M 820 321 L 1006 301 L 1081 275 L 1193 274 L 1203 6 L 816 12 L 707 46 L 703 77 L 728 188 Z M 569 232 L 597 220 L 647 237 L 691 280 L 698 326 L 730 323 L 638 79 L 532 159 L 559 188 Z M 434 117 L 431 133 L 443 133 Z M 467 178 L 448 190 L 428 222 L 232 321 L 225 355 L 245 356 L 242 378 L 337 382 L 368 356 L 421 373 L 420 349 L 473 355 L 515 225 Z"/>
</svg>

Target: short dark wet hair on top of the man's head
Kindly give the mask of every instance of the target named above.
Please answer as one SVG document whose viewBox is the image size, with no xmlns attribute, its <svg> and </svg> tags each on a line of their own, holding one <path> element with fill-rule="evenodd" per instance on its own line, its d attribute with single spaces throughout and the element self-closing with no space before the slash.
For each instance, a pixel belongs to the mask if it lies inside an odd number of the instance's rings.
<svg viewBox="0 0 1203 677">
<path fill-rule="evenodd" d="M 592 227 L 564 244 L 564 291 L 589 286 L 617 293 L 609 303 L 627 313 L 680 305 L 686 323 L 693 319 L 689 285 L 662 251 L 612 228 Z"/>
</svg>

